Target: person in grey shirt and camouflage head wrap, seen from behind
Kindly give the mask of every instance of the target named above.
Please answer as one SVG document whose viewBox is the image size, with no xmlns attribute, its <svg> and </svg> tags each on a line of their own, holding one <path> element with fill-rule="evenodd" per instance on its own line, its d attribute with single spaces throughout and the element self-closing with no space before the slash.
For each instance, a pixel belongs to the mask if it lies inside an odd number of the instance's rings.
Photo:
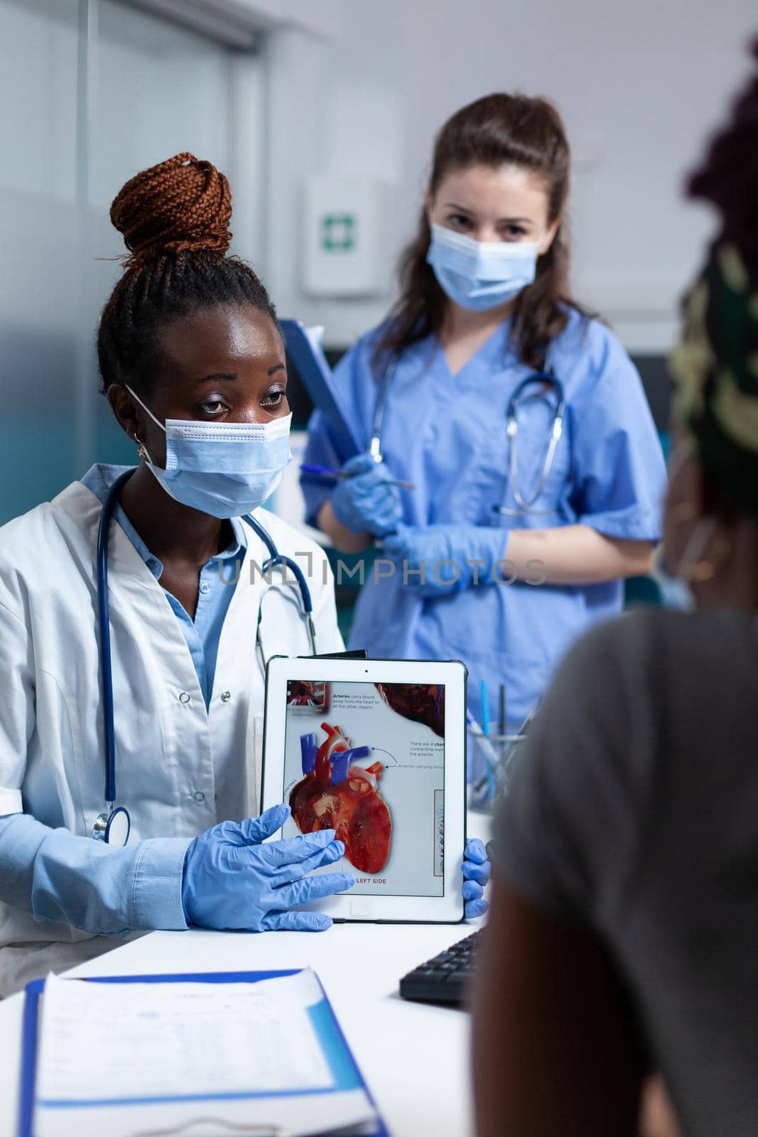
<svg viewBox="0 0 758 1137">
<path fill-rule="evenodd" d="M 566 659 L 495 828 L 481 1137 L 758 1134 L 758 75 L 692 177 L 720 230 L 672 357 L 665 562 L 693 611 Z"/>
</svg>

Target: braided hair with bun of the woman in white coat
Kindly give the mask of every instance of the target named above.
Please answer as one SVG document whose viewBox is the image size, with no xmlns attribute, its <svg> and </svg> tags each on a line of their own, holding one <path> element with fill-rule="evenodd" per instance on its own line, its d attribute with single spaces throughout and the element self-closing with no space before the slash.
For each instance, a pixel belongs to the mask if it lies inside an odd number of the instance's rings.
<svg viewBox="0 0 758 1137">
<path fill-rule="evenodd" d="M 192 153 L 142 171 L 116 196 L 110 219 L 130 251 L 98 329 L 103 395 L 113 383 L 149 389 L 159 331 L 169 321 L 232 304 L 256 308 L 276 324 L 253 269 L 226 255 L 231 217 L 228 181 Z"/>
</svg>

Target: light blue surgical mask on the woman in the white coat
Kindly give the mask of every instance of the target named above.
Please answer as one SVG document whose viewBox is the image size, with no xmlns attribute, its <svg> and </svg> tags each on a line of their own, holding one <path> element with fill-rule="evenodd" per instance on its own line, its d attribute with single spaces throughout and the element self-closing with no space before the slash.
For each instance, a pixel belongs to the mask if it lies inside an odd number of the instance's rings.
<svg viewBox="0 0 758 1137">
<path fill-rule="evenodd" d="M 292 415 L 268 423 L 158 422 L 131 387 L 126 390 L 166 434 L 166 468 L 147 465 L 182 505 L 211 517 L 241 517 L 268 498 L 292 460 Z M 144 446 L 142 447 L 144 450 Z"/>
</svg>

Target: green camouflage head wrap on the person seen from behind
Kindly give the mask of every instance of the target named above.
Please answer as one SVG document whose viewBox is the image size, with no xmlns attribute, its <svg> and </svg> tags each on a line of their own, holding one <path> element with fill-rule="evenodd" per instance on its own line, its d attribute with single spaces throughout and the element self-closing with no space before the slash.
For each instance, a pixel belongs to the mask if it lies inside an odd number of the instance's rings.
<svg viewBox="0 0 758 1137">
<path fill-rule="evenodd" d="M 674 417 L 714 482 L 758 518 L 758 265 L 720 240 L 669 358 Z"/>
</svg>

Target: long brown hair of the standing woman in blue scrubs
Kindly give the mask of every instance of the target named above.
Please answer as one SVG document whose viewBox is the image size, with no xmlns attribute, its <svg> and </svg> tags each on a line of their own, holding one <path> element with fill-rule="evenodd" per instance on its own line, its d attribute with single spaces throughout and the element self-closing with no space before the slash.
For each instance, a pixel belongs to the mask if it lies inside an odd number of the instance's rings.
<svg viewBox="0 0 758 1137">
<path fill-rule="evenodd" d="M 570 155 L 556 108 L 544 99 L 520 94 L 489 94 L 463 107 L 438 134 L 430 192 L 435 194 L 451 169 L 481 165 L 522 166 L 536 174 L 548 194 L 549 224 L 561 219 L 550 249 L 538 260 L 534 283 L 519 292 L 514 312 L 514 346 L 523 363 L 539 368 L 550 341 L 566 326 L 561 305 L 578 308 L 568 289 L 568 244 L 563 221 Z M 422 209 L 418 232 L 400 260 L 400 299 L 377 345 L 377 358 L 442 327 L 448 300 L 426 263 L 431 238 L 426 209 Z"/>
</svg>

